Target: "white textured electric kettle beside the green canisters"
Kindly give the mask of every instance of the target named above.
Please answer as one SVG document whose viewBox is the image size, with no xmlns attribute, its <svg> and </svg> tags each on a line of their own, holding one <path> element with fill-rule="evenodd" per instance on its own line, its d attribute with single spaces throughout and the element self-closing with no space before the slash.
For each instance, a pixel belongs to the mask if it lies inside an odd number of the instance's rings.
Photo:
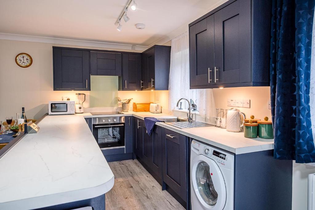
<svg viewBox="0 0 315 210">
<path fill-rule="evenodd" d="M 241 132 L 244 126 L 245 114 L 237 108 L 231 108 L 226 114 L 226 130 L 230 132 Z"/>
</svg>

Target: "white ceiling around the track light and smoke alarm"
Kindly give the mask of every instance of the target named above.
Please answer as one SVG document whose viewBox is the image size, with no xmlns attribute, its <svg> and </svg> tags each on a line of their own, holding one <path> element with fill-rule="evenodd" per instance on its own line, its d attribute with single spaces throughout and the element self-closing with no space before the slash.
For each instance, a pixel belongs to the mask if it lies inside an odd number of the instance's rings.
<svg viewBox="0 0 315 210">
<path fill-rule="evenodd" d="M 128 0 L 1 0 L 0 33 L 149 46 L 225 1 L 135 0 L 119 32 L 114 24 Z"/>
</svg>

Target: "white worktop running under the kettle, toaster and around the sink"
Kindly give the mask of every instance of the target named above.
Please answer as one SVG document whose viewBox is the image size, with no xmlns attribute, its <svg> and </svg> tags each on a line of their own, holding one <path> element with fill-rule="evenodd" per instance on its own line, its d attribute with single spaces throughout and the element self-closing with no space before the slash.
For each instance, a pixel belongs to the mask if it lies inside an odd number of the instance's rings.
<svg viewBox="0 0 315 210">
<path fill-rule="evenodd" d="M 91 115 L 85 113 L 84 117 L 102 117 L 104 115 Z M 110 115 L 110 116 L 135 116 L 140 119 L 145 117 L 155 118 L 171 118 L 176 117 L 164 113 L 150 113 L 150 112 L 125 112 L 124 114 Z M 198 141 L 210 144 L 212 146 L 219 147 L 235 154 L 243 154 L 249 152 L 258 152 L 264 150 L 273 149 L 273 139 L 262 139 L 262 138 L 246 138 L 243 132 L 229 132 L 226 129 L 218 127 L 203 127 L 203 128 L 185 128 L 179 129 L 174 126 L 165 123 L 156 123 L 157 125 L 194 138 Z"/>
</svg>

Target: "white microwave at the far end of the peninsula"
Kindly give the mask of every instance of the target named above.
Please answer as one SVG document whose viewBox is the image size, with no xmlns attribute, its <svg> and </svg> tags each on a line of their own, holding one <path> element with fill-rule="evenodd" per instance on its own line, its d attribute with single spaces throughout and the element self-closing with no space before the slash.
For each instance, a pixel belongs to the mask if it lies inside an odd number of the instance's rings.
<svg viewBox="0 0 315 210">
<path fill-rule="evenodd" d="M 50 101 L 48 103 L 48 114 L 74 114 L 74 101 Z"/>
</svg>

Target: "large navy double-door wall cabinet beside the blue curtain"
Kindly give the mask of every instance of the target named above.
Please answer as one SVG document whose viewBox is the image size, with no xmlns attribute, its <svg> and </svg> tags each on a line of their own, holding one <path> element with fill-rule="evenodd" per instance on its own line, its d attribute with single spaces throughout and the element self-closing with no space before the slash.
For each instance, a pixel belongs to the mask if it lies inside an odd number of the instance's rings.
<svg viewBox="0 0 315 210">
<path fill-rule="evenodd" d="M 190 88 L 269 86 L 270 11 L 230 0 L 189 24 Z"/>
</svg>

